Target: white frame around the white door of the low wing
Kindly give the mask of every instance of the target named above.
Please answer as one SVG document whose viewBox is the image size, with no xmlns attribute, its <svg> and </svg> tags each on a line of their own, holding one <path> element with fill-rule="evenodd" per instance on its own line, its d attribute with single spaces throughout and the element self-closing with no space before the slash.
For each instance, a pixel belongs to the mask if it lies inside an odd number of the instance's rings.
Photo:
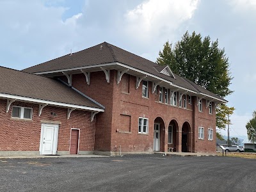
<svg viewBox="0 0 256 192">
<path fill-rule="evenodd" d="M 43 134 L 44 134 L 44 126 L 48 125 L 48 126 L 52 126 L 54 127 L 54 134 L 53 134 L 53 146 L 52 146 L 52 155 L 56 155 L 57 154 L 57 148 L 58 148 L 58 135 L 59 135 L 59 128 L 60 125 L 59 124 L 41 124 L 41 133 L 40 133 L 40 145 L 39 145 L 39 153 L 40 155 L 44 155 L 42 154 L 42 146 L 43 146 Z M 56 128 L 56 130 L 55 130 Z M 55 140 L 54 140 L 55 139 Z"/>
</svg>

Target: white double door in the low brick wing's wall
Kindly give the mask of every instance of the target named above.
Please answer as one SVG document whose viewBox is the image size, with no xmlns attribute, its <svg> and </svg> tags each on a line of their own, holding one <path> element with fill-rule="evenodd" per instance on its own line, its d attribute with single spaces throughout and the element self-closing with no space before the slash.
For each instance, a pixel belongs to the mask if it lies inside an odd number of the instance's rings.
<svg viewBox="0 0 256 192">
<path fill-rule="evenodd" d="M 42 124 L 40 154 L 56 155 L 58 146 L 58 129 L 59 125 Z"/>
</svg>

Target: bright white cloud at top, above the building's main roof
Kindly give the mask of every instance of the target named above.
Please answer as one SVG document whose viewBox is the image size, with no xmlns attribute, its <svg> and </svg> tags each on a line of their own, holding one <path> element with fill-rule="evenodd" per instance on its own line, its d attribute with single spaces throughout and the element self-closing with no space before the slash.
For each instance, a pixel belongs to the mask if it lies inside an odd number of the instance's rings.
<svg viewBox="0 0 256 192">
<path fill-rule="evenodd" d="M 172 33 L 191 19 L 198 0 L 148 0 L 125 14 L 126 33 L 140 40 L 150 40 Z"/>
</svg>

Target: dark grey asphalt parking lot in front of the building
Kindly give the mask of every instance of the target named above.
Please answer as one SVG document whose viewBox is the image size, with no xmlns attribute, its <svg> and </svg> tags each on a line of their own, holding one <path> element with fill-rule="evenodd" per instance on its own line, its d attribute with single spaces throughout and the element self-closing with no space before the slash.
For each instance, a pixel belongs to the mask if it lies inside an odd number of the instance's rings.
<svg viewBox="0 0 256 192">
<path fill-rule="evenodd" d="M 0 191 L 256 191 L 256 160 L 236 157 L 0 159 Z"/>
</svg>

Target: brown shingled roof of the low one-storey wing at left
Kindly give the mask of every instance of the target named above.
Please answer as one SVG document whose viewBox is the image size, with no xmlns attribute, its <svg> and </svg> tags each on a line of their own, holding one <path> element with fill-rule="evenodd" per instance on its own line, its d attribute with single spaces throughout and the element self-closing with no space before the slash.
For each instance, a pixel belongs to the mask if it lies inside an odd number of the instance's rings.
<svg viewBox="0 0 256 192">
<path fill-rule="evenodd" d="M 103 109 L 102 106 L 58 80 L 0 67 L 0 94 Z M 26 100 L 26 99 L 25 99 Z M 81 108 L 82 109 L 82 108 Z"/>
</svg>

